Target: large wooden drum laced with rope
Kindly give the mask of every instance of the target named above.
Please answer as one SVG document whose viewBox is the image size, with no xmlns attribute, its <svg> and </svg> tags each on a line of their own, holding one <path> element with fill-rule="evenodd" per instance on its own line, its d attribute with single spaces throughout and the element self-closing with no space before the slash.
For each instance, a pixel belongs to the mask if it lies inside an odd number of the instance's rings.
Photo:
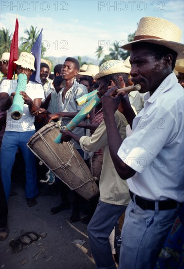
<svg viewBox="0 0 184 269">
<path fill-rule="evenodd" d="M 59 124 L 48 123 L 29 139 L 27 146 L 71 190 L 90 200 L 99 193 L 98 186 L 73 144 L 55 143 L 60 129 Z"/>
</svg>

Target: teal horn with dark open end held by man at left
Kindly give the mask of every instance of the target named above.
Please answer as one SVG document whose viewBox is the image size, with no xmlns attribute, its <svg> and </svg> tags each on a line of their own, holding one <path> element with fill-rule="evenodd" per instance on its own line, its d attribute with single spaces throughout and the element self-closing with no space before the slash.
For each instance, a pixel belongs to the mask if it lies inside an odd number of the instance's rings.
<svg viewBox="0 0 184 269">
<path fill-rule="evenodd" d="M 25 74 L 18 75 L 18 84 L 16 88 L 16 95 L 13 99 L 11 117 L 18 120 L 22 116 L 24 100 L 20 94 L 20 90 L 25 91 L 27 85 L 27 76 Z"/>
</svg>

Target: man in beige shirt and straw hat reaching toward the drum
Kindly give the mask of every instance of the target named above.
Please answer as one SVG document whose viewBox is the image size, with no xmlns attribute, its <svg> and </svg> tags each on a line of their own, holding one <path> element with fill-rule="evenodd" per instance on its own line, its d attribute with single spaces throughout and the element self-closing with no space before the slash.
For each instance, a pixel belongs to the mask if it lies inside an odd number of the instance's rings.
<svg viewBox="0 0 184 269">
<path fill-rule="evenodd" d="M 120 86 L 119 76 L 122 76 L 127 83 L 129 71 L 130 69 L 118 60 L 110 60 L 102 64 L 99 72 L 95 75 L 99 84 L 98 92 L 100 96 L 108 90 L 109 86 Z M 128 122 L 118 110 L 114 116 L 115 125 L 123 140 L 126 137 Z M 112 257 L 109 236 L 117 220 L 129 204 L 130 197 L 126 180 L 121 180 L 114 169 L 109 153 L 105 122 L 103 121 L 99 125 L 91 137 L 80 137 L 65 130 L 62 130 L 61 133 L 61 142 L 69 141 L 72 137 L 80 143 L 85 152 L 96 152 L 103 148 L 103 164 L 99 181 L 100 199 L 88 224 L 88 235 L 96 268 L 114 269 L 116 266 Z"/>
</svg>

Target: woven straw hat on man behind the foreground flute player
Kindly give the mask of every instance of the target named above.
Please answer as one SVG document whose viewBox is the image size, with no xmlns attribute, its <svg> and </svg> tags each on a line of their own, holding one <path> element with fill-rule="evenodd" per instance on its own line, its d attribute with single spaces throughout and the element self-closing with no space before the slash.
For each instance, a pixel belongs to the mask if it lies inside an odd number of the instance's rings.
<svg viewBox="0 0 184 269">
<path fill-rule="evenodd" d="M 126 67 L 122 61 L 119 60 L 110 60 L 103 63 L 100 66 L 100 71 L 94 77 L 94 79 L 98 79 L 110 74 L 115 73 L 127 73 L 129 74 L 130 68 Z"/>
</svg>

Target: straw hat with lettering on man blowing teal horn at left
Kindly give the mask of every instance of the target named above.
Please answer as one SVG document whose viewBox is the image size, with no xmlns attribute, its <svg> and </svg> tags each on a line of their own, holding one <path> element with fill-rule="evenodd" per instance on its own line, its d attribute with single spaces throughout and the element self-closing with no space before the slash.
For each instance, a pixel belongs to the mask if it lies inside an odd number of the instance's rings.
<svg viewBox="0 0 184 269">
<path fill-rule="evenodd" d="M 35 57 L 31 53 L 21 52 L 20 56 L 18 57 L 18 60 L 15 61 L 14 63 L 23 68 L 29 68 L 31 70 L 35 70 L 34 67 Z"/>
</svg>

